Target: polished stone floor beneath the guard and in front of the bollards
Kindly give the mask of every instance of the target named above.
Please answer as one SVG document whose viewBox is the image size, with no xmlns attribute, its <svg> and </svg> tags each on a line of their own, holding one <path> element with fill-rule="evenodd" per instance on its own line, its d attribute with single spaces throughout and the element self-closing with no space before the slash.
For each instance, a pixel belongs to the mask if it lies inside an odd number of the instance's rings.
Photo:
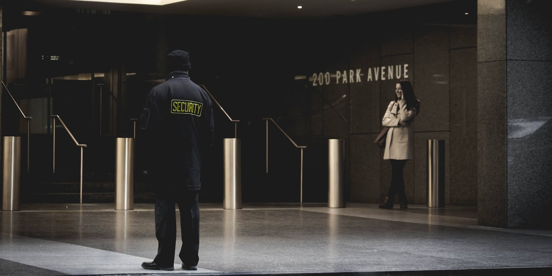
<svg viewBox="0 0 552 276">
<path fill-rule="evenodd" d="M 113 209 L 28 204 L 0 212 L 0 275 L 151 273 L 140 263 L 156 254 L 153 204 Z M 477 226 L 474 207 L 201 204 L 200 211 L 199 270 L 182 270 L 176 252 L 166 273 L 552 266 L 552 231 Z"/>
</svg>

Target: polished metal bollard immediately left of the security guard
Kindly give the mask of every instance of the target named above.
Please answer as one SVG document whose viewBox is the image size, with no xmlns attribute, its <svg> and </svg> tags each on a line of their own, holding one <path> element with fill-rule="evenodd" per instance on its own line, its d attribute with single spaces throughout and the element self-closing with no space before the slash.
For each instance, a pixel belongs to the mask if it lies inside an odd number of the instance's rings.
<svg viewBox="0 0 552 276">
<path fill-rule="evenodd" d="M 117 137 L 115 210 L 134 210 L 134 139 Z"/>
</svg>

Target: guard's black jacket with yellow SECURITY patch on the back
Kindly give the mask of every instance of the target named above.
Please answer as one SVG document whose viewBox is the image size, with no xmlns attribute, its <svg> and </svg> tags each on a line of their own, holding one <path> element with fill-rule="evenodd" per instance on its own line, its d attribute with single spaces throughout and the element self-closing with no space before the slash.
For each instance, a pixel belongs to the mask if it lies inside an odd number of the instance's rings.
<svg viewBox="0 0 552 276">
<path fill-rule="evenodd" d="M 148 93 L 140 121 L 148 175 L 199 190 L 201 152 L 213 144 L 214 134 L 208 94 L 187 72 L 171 72 Z"/>
</svg>

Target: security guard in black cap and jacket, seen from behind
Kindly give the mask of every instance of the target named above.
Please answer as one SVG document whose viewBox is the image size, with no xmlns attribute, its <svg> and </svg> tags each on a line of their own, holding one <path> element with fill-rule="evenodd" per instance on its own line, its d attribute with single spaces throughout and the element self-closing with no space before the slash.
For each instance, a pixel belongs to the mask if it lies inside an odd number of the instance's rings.
<svg viewBox="0 0 552 276">
<path fill-rule="evenodd" d="M 176 211 L 182 229 L 179 257 L 182 268 L 197 270 L 199 261 L 199 203 L 201 154 L 213 144 L 213 111 L 207 93 L 190 81 L 188 52 L 168 54 L 169 75 L 151 89 L 141 117 L 147 145 L 147 175 L 155 183 L 155 236 L 159 242 L 153 262 L 145 269 L 174 270 Z"/>
</svg>

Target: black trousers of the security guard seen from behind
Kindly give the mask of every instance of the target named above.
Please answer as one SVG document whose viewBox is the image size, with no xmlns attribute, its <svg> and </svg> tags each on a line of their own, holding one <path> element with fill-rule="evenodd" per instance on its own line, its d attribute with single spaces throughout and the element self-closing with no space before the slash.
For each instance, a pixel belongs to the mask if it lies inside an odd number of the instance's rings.
<svg viewBox="0 0 552 276">
<path fill-rule="evenodd" d="M 172 267 L 176 248 L 176 211 L 178 203 L 182 232 L 182 248 L 178 256 L 186 266 L 199 261 L 199 202 L 198 191 L 158 189 L 155 192 L 155 236 L 159 242 L 153 262 Z"/>
</svg>

